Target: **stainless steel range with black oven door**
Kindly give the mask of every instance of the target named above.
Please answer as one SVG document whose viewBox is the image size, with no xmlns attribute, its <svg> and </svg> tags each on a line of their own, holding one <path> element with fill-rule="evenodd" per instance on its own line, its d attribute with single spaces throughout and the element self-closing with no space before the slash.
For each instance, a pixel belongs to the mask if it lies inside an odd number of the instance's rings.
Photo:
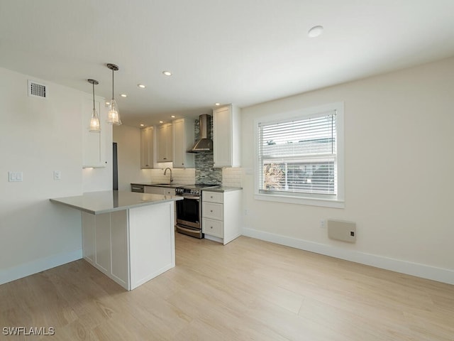
<svg viewBox="0 0 454 341">
<path fill-rule="evenodd" d="M 177 232 L 191 237 L 203 238 L 201 232 L 201 191 L 218 185 L 196 184 L 175 188 L 175 195 L 181 195 L 177 205 Z"/>
</svg>

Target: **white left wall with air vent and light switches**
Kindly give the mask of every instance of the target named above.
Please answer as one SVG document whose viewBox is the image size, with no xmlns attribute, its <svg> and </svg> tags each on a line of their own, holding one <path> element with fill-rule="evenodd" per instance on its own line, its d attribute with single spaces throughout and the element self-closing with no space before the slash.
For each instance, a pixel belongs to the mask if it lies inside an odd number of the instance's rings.
<svg viewBox="0 0 454 341">
<path fill-rule="evenodd" d="M 47 86 L 47 99 L 28 97 L 29 79 Z M 82 175 L 85 97 L 0 68 L 0 283 L 82 256 L 80 212 L 49 198 L 79 195 L 92 189 L 93 176 L 111 173 L 108 165 Z M 111 128 L 106 134 L 111 141 Z M 23 172 L 23 182 L 8 182 L 8 171 Z M 62 179 L 53 180 L 53 171 Z"/>
</svg>

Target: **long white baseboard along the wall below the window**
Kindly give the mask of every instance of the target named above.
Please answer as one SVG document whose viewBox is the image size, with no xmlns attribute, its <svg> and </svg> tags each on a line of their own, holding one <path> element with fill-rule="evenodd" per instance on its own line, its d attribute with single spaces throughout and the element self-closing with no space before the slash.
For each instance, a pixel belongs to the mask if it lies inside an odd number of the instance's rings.
<svg viewBox="0 0 454 341">
<path fill-rule="evenodd" d="M 347 261 L 354 261 L 355 263 L 375 266 L 380 269 L 396 271 L 401 274 L 407 274 L 411 276 L 431 279 L 433 281 L 454 284 L 454 271 L 449 269 L 442 269 L 435 266 L 428 266 L 424 264 L 412 263 L 410 261 L 402 261 L 399 259 L 377 256 L 376 254 L 366 254 L 360 251 L 341 249 L 339 247 L 333 247 L 331 245 L 309 242 L 303 239 L 296 239 L 292 237 L 284 237 L 279 234 L 272 234 L 270 232 L 262 232 L 257 229 L 249 229 L 243 227 L 242 234 L 246 237 L 252 237 L 265 240 L 266 242 L 285 245 L 287 247 L 294 247 L 296 249 L 311 251 L 315 252 L 316 254 L 324 254 L 326 256 L 345 259 Z"/>
</svg>

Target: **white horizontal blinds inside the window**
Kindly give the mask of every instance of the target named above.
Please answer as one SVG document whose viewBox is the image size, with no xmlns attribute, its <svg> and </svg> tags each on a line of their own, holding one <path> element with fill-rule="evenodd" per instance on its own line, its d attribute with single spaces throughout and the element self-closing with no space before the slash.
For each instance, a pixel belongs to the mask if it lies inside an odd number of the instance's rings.
<svg viewBox="0 0 454 341">
<path fill-rule="evenodd" d="M 258 124 L 262 194 L 337 194 L 336 110 Z"/>
</svg>

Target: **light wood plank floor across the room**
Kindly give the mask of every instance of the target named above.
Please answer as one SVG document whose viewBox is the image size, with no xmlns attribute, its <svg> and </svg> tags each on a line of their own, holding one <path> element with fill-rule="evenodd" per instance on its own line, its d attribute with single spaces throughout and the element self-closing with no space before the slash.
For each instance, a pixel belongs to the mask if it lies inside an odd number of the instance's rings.
<svg viewBox="0 0 454 341">
<path fill-rule="evenodd" d="M 454 340 L 454 286 L 248 237 L 177 234 L 176 247 L 175 269 L 129 292 L 82 260 L 6 283 L 0 327 L 55 328 L 40 340 Z"/>
</svg>

